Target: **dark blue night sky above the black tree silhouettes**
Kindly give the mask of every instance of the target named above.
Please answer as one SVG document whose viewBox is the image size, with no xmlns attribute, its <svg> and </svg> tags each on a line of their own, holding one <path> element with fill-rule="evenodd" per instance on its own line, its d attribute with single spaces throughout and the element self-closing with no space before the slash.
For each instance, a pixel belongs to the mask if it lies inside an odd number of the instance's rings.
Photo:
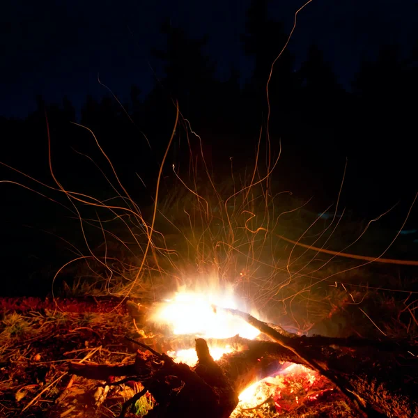
<svg viewBox="0 0 418 418">
<path fill-rule="evenodd" d="M 272 1 L 270 14 L 291 30 L 293 15 L 304 1 Z M 0 16 L 0 115 L 26 116 L 35 95 L 60 102 L 63 95 L 79 107 L 86 94 L 106 93 L 97 75 L 122 99 L 137 84 L 144 93 L 153 85 L 155 61 L 150 48 L 163 47 L 160 24 L 174 25 L 192 36 L 208 33 L 208 54 L 226 77 L 231 63 L 244 77 L 251 61 L 244 56 L 249 0 L 5 0 Z M 316 42 L 349 86 L 362 56 L 373 59 L 379 45 L 396 42 L 405 49 L 417 40 L 417 0 L 314 0 L 300 14 L 289 47 L 297 63 Z"/>
</svg>

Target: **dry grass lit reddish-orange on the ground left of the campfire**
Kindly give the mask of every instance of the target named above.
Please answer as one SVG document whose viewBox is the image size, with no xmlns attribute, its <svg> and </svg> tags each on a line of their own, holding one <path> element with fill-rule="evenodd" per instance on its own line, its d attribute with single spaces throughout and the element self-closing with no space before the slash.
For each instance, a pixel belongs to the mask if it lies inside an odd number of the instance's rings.
<svg viewBox="0 0 418 418">
<path fill-rule="evenodd" d="M 22 325 L 24 324 L 24 326 Z M 2 417 L 116 417 L 124 399 L 139 388 L 115 387 L 102 397 L 100 383 L 70 376 L 70 362 L 126 362 L 132 352 L 123 336 L 132 332 L 127 315 L 79 314 L 61 311 L 13 312 L 3 319 L 0 352 L 0 415 Z M 19 332 L 16 332 L 19 330 Z M 24 330 L 24 332 L 20 332 Z M 141 399 L 137 409 L 150 406 Z"/>
</svg>

